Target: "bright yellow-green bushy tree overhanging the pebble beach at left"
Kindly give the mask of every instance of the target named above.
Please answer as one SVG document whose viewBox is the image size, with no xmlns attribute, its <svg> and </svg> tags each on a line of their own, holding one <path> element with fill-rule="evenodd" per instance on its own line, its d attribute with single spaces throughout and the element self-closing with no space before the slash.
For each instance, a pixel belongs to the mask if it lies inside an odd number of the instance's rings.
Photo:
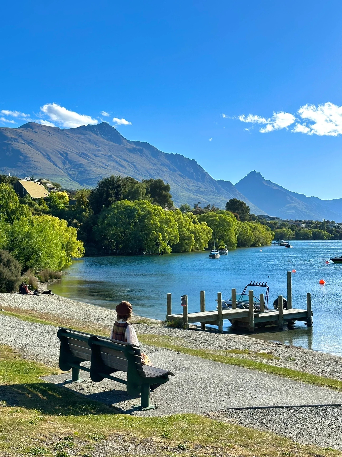
<svg viewBox="0 0 342 457">
<path fill-rule="evenodd" d="M 24 271 L 50 269 L 60 271 L 71 265 L 73 257 L 82 257 L 84 248 L 77 230 L 67 221 L 50 215 L 16 220 L 9 230 L 7 250 L 21 263 Z"/>
</svg>

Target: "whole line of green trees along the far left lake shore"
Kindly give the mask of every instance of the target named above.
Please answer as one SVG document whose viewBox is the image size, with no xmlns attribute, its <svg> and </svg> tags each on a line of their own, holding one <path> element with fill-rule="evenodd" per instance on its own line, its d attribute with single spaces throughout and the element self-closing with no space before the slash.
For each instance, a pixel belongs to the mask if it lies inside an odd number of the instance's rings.
<svg viewBox="0 0 342 457">
<path fill-rule="evenodd" d="M 0 176 L 1 268 L 7 289 L 16 287 L 23 274 L 44 271 L 41 276 L 53 279 L 53 272 L 85 254 L 190 252 L 211 249 L 214 242 L 232 250 L 269 245 L 274 237 L 236 199 L 225 209 L 202 208 L 200 202 L 174 207 L 170 186 L 161 179 L 110 176 L 92 190 L 73 193 L 54 183 L 57 190 L 40 199 L 18 197 L 16 181 Z"/>
</svg>

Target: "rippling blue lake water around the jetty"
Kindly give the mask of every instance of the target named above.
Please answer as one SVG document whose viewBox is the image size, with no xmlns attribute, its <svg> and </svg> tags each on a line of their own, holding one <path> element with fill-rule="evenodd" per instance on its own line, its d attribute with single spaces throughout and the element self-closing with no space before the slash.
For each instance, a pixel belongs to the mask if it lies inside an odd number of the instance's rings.
<svg viewBox="0 0 342 457">
<path fill-rule="evenodd" d="M 284 246 L 238 248 L 209 259 L 208 252 L 163 256 L 85 257 L 73 261 L 53 292 L 64 297 L 106 308 L 121 300 L 134 306 L 135 314 L 165 319 L 166 293 L 172 293 L 172 313 L 182 313 L 181 295 L 188 296 L 189 312 L 200 309 L 200 290 L 206 292 L 206 309 L 215 309 L 217 292 L 222 298 L 231 289 L 242 292 L 252 281 L 267 281 L 269 307 L 278 295 L 286 297 L 286 271 L 292 269 L 292 306 L 306 309 L 306 293 L 311 292 L 313 327 L 298 322 L 293 329 L 267 330 L 256 338 L 282 341 L 342 356 L 342 265 L 331 257 L 342 255 L 342 241 L 293 241 Z M 329 260 L 329 264 L 326 264 Z M 326 284 L 321 286 L 319 280 Z M 254 289 L 254 295 L 263 292 Z M 224 329 L 229 329 L 224 321 Z"/>
</svg>

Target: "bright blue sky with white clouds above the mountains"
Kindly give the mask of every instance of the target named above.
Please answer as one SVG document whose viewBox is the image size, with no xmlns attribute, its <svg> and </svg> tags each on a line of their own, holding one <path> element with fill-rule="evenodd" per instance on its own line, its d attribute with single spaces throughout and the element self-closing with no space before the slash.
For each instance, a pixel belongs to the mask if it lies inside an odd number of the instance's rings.
<svg viewBox="0 0 342 457">
<path fill-rule="evenodd" d="M 1 127 L 105 120 L 216 179 L 342 197 L 341 1 L 15 1 L 2 18 Z"/>
</svg>

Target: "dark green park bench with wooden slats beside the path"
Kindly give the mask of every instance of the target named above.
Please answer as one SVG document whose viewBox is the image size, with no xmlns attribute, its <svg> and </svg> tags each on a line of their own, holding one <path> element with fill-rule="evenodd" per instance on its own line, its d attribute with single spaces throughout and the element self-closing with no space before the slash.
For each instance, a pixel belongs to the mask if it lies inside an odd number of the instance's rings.
<svg viewBox="0 0 342 457">
<path fill-rule="evenodd" d="M 140 393 L 141 409 L 155 408 L 150 405 L 150 386 L 164 384 L 169 375 L 174 376 L 168 370 L 143 365 L 140 348 L 135 345 L 73 329 L 60 328 L 57 336 L 61 341 L 59 367 L 63 371 L 72 370 L 72 382 L 79 382 L 79 371 L 84 370 L 95 383 L 107 378 L 126 384 L 130 395 Z M 86 361 L 90 362 L 90 368 L 80 365 Z M 127 381 L 111 376 L 117 371 L 126 372 Z"/>
</svg>

